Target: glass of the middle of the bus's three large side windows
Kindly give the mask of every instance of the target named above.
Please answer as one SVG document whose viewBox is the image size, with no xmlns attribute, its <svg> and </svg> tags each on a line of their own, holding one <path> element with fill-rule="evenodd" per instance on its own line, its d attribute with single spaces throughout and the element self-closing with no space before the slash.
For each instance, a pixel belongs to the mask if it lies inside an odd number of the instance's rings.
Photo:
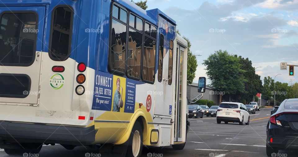
<svg viewBox="0 0 298 157">
<path fill-rule="evenodd" d="M 135 21 L 135 19 L 137 19 Z M 142 58 L 142 43 L 143 43 L 143 21 L 142 19 L 129 15 L 129 36 L 128 36 L 128 51 L 127 51 L 127 76 L 133 77 L 136 80 L 141 76 L 141 58 Z"/>
</svg>

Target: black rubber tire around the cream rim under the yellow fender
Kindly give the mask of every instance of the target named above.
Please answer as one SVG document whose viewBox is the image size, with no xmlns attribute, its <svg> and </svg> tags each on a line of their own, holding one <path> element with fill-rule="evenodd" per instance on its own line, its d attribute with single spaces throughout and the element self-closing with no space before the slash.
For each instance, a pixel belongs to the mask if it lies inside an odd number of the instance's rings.
<svg viewBox="0 0 298 157">
<path fill-rule="evenodd" d="M 139 152 L 137 155 L 133 154 L 133 140 L 134 140 L 134 138 L 137 138 L 134 136 L 135 133 L 139 134 L 139 136 L 140 136 L 139 140 L 141 141 L 141 144 L 139 147 Z M 140 122 L 136 121 L 134 123 L 133 130 L 130 132 L 126 157 L 140 157 L 142 155 L 142 148 L 143 148 L 143 129 L 142 129 Z"/>
</svg>

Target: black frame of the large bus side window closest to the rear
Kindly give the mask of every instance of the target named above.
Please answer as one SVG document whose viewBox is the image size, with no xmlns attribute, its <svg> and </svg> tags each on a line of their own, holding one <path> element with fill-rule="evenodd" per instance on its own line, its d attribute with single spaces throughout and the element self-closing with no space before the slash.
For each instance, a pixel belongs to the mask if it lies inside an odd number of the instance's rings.
<svg viewBox="0 0 298 157">
<path fill-rule="evenodd" d="M 116 6 L 119 8 L 118 10 L 118 17 L 117 19 L 112 15 L 112 12 L 113 12 L 113 6 Z M 123 9 L 125 12 L 126 12 L 126 15 L 127 15 L 127 18 L 126 18 L 126 23 L 124 23 L 123 21 L 120 20 L 120 11 L 121 9 Z M 114 17 L 114 18 L 113 18 Z M 111 44 L 112 44 L 112 40 L 111 40 L 111 36 L 112 36 L 112 22 L 113 20 L 116 20 L 117 22 L 120 22 L 124 25 L 126 25 L 126 42 L 125 42 L 125 58 L 124 58 L 124 72 L 120 72 L 120 71 L 117 71 L 117 70 L 114 70 L 111 68 Z M 128 47 L 127 47 L 127 41 L 128 41 L 128 30 L 129 30 L 129 11 L 125 8 L 125 7 L 122 7 L 120 4 L 116 3 L 116 2 L 113 2 L 111 3 L 111 7 L 110 7 L 110 30 L 109 30 L 109 53 L 108 53 L 108 70 L 111 74 L 118 74 L 118 76 L 124 76 L 125 73 L 126 73 L 126 69 L 127 69 L 127 66 L 126 66 L 126 57 L 127 57 L 127 50 L 128 50 Z"/>
</svg>

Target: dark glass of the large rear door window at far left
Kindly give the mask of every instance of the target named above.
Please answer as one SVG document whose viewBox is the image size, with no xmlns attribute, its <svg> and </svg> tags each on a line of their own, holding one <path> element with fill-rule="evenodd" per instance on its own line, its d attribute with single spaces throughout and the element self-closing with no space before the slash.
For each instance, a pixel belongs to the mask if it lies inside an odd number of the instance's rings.
<svg viewBox="0 0 298 157">
<path fill-rule="evenodd" d="M 1 15 L 0 65 L 30 66 L 35 58 L 37 15 L 7 12 Z"/>
</svg>

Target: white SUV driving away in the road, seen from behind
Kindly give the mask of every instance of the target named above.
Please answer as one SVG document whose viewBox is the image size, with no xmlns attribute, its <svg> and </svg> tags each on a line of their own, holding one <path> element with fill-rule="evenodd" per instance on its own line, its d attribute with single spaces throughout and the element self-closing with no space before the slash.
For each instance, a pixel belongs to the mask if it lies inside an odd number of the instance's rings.
<svg viewBox="0 0 298 157">
<path fill-rule="evenodd" d="M 217 109 L 216 120 L 218 124 L 224 121 L 225 124 L 239 122 L 240 125 L 249 125 L 249 113 L 242 103 L 222 102 Z"/>
</svg>

